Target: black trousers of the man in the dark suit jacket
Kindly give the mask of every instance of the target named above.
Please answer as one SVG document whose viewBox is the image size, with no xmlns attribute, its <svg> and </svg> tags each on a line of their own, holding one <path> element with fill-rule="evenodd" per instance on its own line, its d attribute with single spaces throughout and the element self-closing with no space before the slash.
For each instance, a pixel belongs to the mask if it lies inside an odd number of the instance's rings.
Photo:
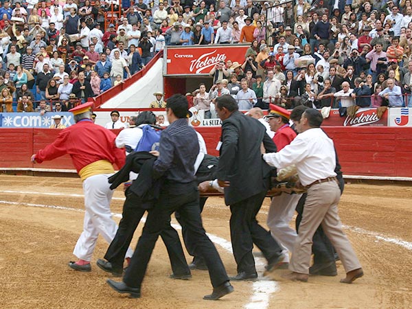
<svg viewBox="0 0 412 309">
<path fill-rule="evenodd" d="M 271 233 L 256 220 L 265 196 L 266 190 L 230 206 L 230 236 L 238 273 L 256 272 L 253 244 L 262 251 L 269 263 L 282 254 L 282 248 Z"/>
</svg>

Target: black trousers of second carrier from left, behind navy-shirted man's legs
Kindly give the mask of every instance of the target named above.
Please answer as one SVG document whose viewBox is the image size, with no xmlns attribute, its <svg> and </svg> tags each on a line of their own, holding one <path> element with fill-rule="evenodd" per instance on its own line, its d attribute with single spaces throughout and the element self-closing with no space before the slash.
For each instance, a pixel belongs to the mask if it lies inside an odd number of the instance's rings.
<svg viewBox="0 0 412 309">
<path fill-rule="evenodd" d="M 119 229 L 117 229 L 115 238 L 113 238 L 104 255 L 104 258 L 108 262 L 111 262 L 113 268 L 123 268 L 126 251 L 130 246 L 137 225 L 139 225 L 141 217 L 145 212 L 146 209 L 141 208 L 139 196 L 133 194 L 130 190 L 126 191 L 126 201 L 123 205 L 122 220 L 119 222 Z M 165 229 L 161 231 L 160 236 L 165 243 L 166 249 L 168 249 L 173 273 L 175 275 L 190 273 L 181 247 L 179 234 L 170 226 L 170 218 L 165 224 Z"/>
</svg>

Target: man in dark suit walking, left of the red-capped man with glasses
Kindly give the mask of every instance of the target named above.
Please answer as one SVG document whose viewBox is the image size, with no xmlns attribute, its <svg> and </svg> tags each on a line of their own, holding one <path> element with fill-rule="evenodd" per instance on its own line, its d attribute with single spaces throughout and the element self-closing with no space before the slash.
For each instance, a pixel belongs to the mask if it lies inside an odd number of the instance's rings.
<svg viewBox="0 0 412 309">
<path fill-rule="evenodd" d="M 284 260 L 279 244 L 256 220 L 272 170 L 262 160 L 260 146 L 263 143 L 266 152 L 276 151 L 276 146 L 257 119 L 238 111 L 231 95 L 216 99 L 216 112 L 222 119 L 218 183 L 225 187 L 225 203 L 230 205 L 231 242 L 238 264 L 238 274 L 231 280 L 255 279 L 253 243 L 268 260 L 267 271 L 278 268 Z"/>
</svg>

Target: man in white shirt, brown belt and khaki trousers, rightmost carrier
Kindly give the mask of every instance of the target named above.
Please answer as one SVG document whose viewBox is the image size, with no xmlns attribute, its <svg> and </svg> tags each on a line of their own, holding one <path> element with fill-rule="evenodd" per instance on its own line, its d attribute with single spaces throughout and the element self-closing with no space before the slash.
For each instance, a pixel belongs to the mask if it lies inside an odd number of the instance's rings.
<svg viewBox="0 0 412 309">
<path fill-rule="evenodd" d="M 300 133 L 279 152 L 263 155 L 264 161 L 275 168 L 296 165 L 301 185 L 308 189 L 299 234 L 293 247 L 288 273 L 282 277 L 301 282 L 308 281 L 312 236 L 322 224 L 323 230 L 339 253 L 346 277 L 341 283 L 350 284 L 363 276 L 361 263 L 343 233 L 338 215 L 341 190 L 336 180 L 336 155 L 332 139 L 320 126 L 323 117 L 319 111 L 309 108 L 300 121 L 295 123 Z"/>
</svg>

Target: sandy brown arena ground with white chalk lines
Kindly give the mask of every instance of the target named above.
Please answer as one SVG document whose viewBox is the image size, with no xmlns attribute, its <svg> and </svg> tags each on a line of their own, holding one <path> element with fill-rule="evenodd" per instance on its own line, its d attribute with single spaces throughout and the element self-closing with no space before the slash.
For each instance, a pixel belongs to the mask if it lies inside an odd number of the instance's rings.
<svg viewBox="0 0 412 309">
<path fill-rule="evenodd" d="M 170 264 L 161 240 L 141 299 L 129 299 L 106 285 L 108 274 L 95 266 L 108 246 L 102 238 L 92 272 L 72 271 L 67 262 L 76 260 L 71 253 L 82 231 L 82 194 L 80 179 L 0 176 L 0 308 L 412 308 L 412 189 L 407 185 L 346 185 L 340 214 L 365 271 L 354 284 L 339 283 L 345 272 L 338 262 L 337 277 L 284 282 L 273 280 L 282 273 L 276 271 L 273 278 L 258 282 L 234 282 L 235 292 L 216 302 L 202 299 L 211 291 L 207 272 L 193 271 L 190 281 L 168 277 Z M 113 213 L 122 212 L 123 197 L 122 190 L 115 192 Z M 267 211 L 268 199 L 260 222 Z M 229 209 L 222 198 L 209 198 L 203 220 L 229 275 L 234 275 Z M 256 260 L 262 274 L 264 261 Z"/>
</svg>

